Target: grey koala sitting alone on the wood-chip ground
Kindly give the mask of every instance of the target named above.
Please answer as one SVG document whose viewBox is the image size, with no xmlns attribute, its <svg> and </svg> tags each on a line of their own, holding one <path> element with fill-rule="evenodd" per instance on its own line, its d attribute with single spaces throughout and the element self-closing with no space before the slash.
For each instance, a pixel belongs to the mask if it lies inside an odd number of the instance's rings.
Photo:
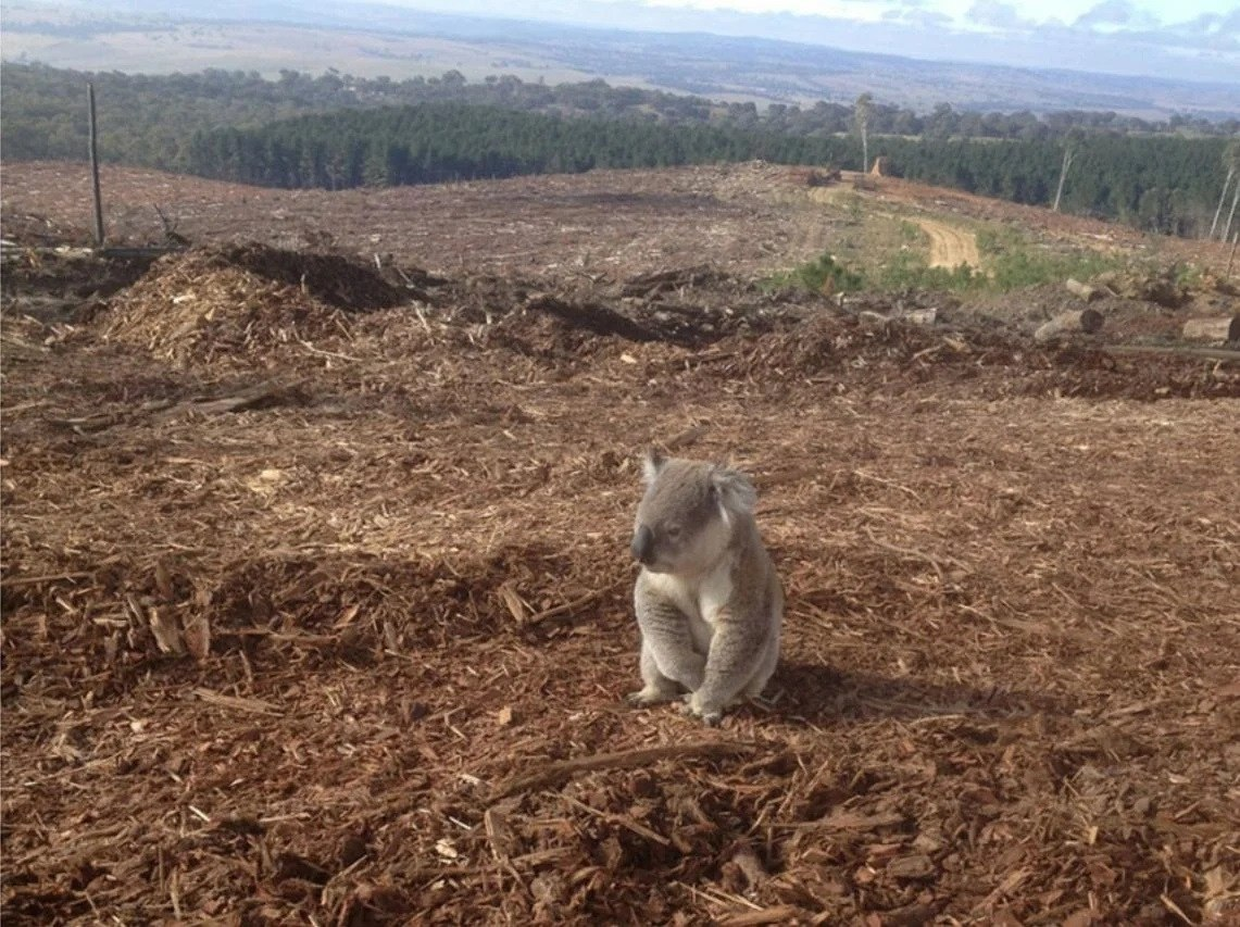
<svg viewBox="0 0 1240 927">
<path fill-rule="evenodd" d="M 759 695 L 779 661 L 784 590 L 754 522 L 744 473 L 650 451 L 632 555 L 641 630 L 636 705 L 684 694 L 684 711 L 717 725 Z"/>
</svg>

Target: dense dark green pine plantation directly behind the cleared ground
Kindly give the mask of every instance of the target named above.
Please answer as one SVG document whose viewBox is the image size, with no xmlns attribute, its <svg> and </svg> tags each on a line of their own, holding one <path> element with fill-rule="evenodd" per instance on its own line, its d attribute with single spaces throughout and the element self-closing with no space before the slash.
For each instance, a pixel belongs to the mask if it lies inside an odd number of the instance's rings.
<svg viewBox="0 0 1240 927">
<path fill-rule="evenodd" d="M 870 131 L 867 145 L 900 176 L 1037 206 L 1052 203 L 1064 146 L 1070 145 L 1064 211 L 1200 235 L 1214 214 L 1228 143 L 1105 134 L 1066 140 L 910 139 Z M 858 167 L 862 140 L 857 134 L 670 126 L 436 103 L 198 131 L 190 140 L 186 167 L 217 180 L 342 190 L 754 159 Z"/>
</svg>

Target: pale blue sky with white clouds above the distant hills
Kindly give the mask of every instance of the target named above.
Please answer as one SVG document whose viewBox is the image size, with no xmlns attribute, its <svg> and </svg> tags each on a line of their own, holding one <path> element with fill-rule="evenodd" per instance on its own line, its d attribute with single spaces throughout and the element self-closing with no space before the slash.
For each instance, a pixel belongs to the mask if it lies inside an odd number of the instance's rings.
<svg viewBox="0 0 1240 927">
<path fill-rule="evenodd" d="M 914 58 L 1240 84 L 1240 0 L 378 0 Z M 518 12 L 520 10 L 520 12 Z"/>
</svg>

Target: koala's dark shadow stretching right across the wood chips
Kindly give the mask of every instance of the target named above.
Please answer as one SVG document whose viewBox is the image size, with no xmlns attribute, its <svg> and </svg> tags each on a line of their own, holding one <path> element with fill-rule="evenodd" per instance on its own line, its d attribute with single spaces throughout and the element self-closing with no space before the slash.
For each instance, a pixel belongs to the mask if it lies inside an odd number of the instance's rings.
<svg viewBox="0 0 1240 927">
<path fill-rule="evenodd" d="M 1074 705 L 1045 693 L 1002 685 L 944 684 L 915 675 L 882 675 L 821 663 L 781 662 L 766 687 L 773 714 L 787 723 L 831 726 L 883 718 L 973 720 L 1066 715 Z"/>
</svg>

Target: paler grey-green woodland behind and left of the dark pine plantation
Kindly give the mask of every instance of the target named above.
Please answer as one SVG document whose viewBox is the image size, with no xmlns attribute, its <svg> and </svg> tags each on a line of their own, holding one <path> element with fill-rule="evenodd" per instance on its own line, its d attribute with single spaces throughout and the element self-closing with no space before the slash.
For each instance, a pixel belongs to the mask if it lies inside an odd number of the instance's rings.
<svg viewBox="0 0 1240 927">
<path fill-rule="evenodd" d="M 548 86 L 512 76 L 469 82 L 460 72 L 441 77 L 365 79 L 327 71 L 312 76 L 281 71 L 275 79 L 258 72 L 208 68 L 192 74 L 88 73 L 43 64 L 0 66 L 0 107 L 5 131 L 0 159 L 79 159 L 86 150 L 84 86 L 99 99 L 99 151 L 105 161 L 184 170 L 188 139 L 202 126 L 253 128 L 279 119 L 340 109 L 419 103 L 469 103 L 520 113 L 621 119 L 653 125 L 711 125 L 786 135 L 848 133 L 853 104 L 810 107 L 717 103 L 701 97 L 611 87 L 604 81 Z M 1073 130 L 1118 135 L 1209 135 L 1240 133 L 1240 120 L 1190 116 L 1146 120 L 1114 112 L 1070 110 L 981 113 L 941 103 L 929 113 L 869 100 L 868 130 L 875 135 L 1054 140 Z"/>
</svg>

